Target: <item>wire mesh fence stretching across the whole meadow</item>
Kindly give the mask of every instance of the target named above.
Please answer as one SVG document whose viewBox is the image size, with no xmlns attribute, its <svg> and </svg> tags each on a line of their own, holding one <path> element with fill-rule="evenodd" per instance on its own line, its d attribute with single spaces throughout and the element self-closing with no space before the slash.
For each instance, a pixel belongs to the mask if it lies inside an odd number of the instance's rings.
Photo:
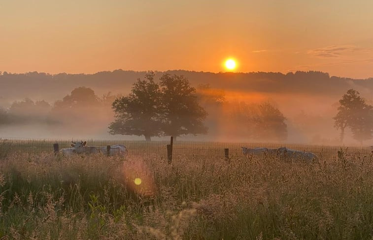
<svg viewBox="0 0 373 240">
<path fill-rule="evenodd" d="M 10 152 L 26 153 L 53 153 L 53 144 L 58 143 L 59 148 L 69 148 L 71 141 L 76 139 L 35 139 L 35 138 L 0 138 L 0 152 L 6 148 Z M 128 140 L 87 140 L 88 146 L 125 145 L 130 155 L 156 154 L 167 156 L 167 144 L 169 141 L 128 141 Z M 288 143 L 244 143 L 244 142 L 194 142 L 194 141 L 174 141 L 173 156 L 214 156 L 224 158 L 224 149 L 229 149 L 229 156 L 242 156 L 241 147 L 256 148 L 265 147 L 277 149 L 287 147 L 294 150 L 312 152 L 317 156 L 322 155 L 331 158 L 338 155 L 342 148 L 346 153 L 355 155 L 370 155 L 370 147 L 346 147 L 346 146 L 317 146 Z"/>
</svg>

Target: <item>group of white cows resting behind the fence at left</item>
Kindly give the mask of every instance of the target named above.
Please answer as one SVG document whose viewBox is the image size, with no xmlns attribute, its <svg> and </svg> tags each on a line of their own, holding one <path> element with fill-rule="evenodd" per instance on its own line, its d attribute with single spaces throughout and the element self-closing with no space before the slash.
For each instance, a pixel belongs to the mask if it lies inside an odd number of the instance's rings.
<svg viewBox="0 0 373 240">
<path fill-rule="evenodd" d="M 96 153 L 102 153 L 102 154 L 108 154 L 110 156 L 114 155 L 121 155 L 126 156 L 128 155 L 128 150 L 126 146 L 118 144 L 118 145 L 111 145 L 109 149 L 109 153 L 107 153 L 107 147 L 99 147 L 99 146 L 87 146 L 87 142 L 74 142 L 71 141 L 72 144 L 70 145 L 70 148 L 64 148 L 60 150 L 60 153 L 62 153 L 64 156 L 71 156 L 73 154 L 96 154 Z"/>
</svg>

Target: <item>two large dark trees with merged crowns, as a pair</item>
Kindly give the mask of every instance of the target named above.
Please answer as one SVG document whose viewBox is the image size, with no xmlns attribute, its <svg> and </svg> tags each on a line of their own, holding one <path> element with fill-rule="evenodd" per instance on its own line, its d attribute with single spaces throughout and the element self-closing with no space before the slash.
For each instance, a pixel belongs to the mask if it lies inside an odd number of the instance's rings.
<svg viewBox="0 0 373 240">
<path fill-rule="evenodd" d="M 165 74 L 160 83 L 155 74 L 138 79 L 126 97 L 118 98 L 112 107 L 115 121 L 111 134 L 152 136 L 207 133 L 203 125 L 207 112 L 198 103 L 196 89 L 183 76 Z"/>
</svg>

